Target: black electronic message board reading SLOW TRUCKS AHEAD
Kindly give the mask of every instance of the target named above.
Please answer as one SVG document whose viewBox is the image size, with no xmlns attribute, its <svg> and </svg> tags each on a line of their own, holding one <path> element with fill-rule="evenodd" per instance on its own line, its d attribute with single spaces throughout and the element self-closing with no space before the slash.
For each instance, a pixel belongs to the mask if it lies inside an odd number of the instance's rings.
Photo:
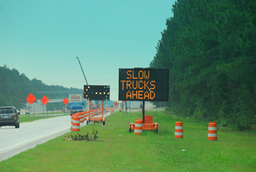
<svg viewBox="0 0 256 172">
<path fill-rule="evenodd" d="M 119 100 L 169 101 L 169 69 L 119 69 Z"/>
</svg>

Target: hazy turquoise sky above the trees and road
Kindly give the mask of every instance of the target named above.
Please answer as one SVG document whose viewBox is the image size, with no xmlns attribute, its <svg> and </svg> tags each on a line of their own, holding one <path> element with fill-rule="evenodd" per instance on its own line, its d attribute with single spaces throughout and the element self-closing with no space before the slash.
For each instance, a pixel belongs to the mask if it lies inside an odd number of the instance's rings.
<svg viewBox="0 0 256 172">
<path fill-rule="evenodd" d="M 110 85 L 119 68 L 149 67 L 174 0 L 0 0 L 0 66 L 46 85 Z"/>
</svg>

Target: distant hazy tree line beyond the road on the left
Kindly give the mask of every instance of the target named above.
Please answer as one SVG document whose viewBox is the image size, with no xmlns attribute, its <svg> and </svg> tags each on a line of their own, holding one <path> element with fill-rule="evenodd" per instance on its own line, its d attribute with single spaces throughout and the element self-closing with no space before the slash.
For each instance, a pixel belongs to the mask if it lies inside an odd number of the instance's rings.
<svg viewBox="0 0 256 172">
<path fill-rule="evenodd" d="M 67 89 L 59 85 L 45 85 L 36 78 L 29 80 L 25 74 L 19 74 L 17 69 L 10 70 L 6 65 L 0 67 L 0 106 L 15 106 L 17 109 L 21 109 L 27 103 L 26 98 L 30 93 L 38 100 L 43 96 L 47 96 L 49 99 L 57 99 L 69 98 L 69 91 L 75 90 L 78 89 Z M 43 93 L 43 91 L 51 93 Z M 62 107 L 64 107 L 62 102 L 47 103 L 48 111 L 53 111 L 55 108 L 62 109 Z"/>
</svg>

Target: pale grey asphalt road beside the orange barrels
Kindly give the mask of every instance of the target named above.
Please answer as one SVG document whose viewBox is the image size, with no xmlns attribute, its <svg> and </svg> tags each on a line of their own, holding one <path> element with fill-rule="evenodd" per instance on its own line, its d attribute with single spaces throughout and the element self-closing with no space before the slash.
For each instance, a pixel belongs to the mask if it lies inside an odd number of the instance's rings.
<svg viewBox="0 0 256 172">
<path fill-rule="evenodd" d="M 108 115 L 104 114 L 104 116 Z M 86 122 L 81 123 L 80 127 L 84 125 Z M 69 131 L 71 131 L 71 116 L 23 122 L 19 124 L 19 129 L 14 126 L 1 127 L 0 162 Z"/>
</svg>

